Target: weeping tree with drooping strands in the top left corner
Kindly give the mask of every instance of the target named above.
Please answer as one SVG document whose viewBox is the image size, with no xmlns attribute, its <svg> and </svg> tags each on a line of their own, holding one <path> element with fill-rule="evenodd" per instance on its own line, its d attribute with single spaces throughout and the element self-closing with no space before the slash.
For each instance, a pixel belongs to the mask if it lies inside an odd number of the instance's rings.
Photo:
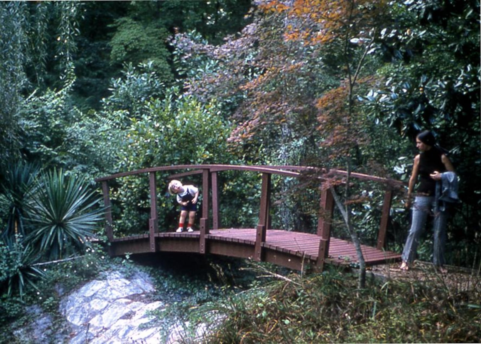
<svg viewBox="0 0 481 344">
<path fill-rule="evenodd" d="M 78 33 L 78 6 L 75 1 L 0 3 L 2 162 L 19 155 L 22 135 L 19 112 L 24 99 L 36 92 L 35 89 L 61 85 L 71 70 L 75 52 L 74 37 Z M 47 72 L 51 69 L 57 73 L 49 79 Z"/>
</svg>

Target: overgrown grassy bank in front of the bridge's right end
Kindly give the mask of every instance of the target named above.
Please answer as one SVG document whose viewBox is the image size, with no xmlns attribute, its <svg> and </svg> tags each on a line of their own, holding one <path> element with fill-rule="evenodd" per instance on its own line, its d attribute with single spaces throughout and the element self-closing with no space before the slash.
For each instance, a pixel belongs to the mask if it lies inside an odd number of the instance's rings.
<svg viewBox="0 0 481 344">
<path fill-rule="evenodd" d="M 363 290 L 355 275 L 337 270 L 289 275 L 208 305 L 225 318 L 206 342 L 480 342 L 479 276 L 460 288 L 429 273 L 434 278 L 372 280 Z"/>
</svg>

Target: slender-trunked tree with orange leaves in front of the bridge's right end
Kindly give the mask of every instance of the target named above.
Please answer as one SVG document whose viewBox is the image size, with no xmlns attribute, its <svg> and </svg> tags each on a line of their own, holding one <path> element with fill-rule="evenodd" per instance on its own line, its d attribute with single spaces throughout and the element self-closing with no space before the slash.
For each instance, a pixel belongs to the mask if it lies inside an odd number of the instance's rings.
<svg viewBox="0 0 481 344">
<path fill-rule="evenodd" d="M 362 112 L 358 111 L 355 103 L 355 89 L 361 81 L 362 68 L 366 63 L 368 54 L 375 51 L 376 38 L 380 31 L 380 25 L 385 17 L 387 6 L 382 2 L 373 1 L 319 1 L 319 0 L 299 0 L 291 4 L 284 1 L 270 1 L 262 5 L 261 9 L 266 13 L 270 13 L 279 18 L 283 27 L 280 31 L 273 33 L 273 36 L 281 36 L 286 45 L 300 46 L 302 54 L 298 57 L 298 62 L 292 60 L 287 67 L 273 68 L 271 63 L 269 67 L 262 70 L 246 87 L 257 89 L 262 84 L 264 87 L 269 82 L 275 80 L 280 73 L 289 71 L 289 69 L 299 68 L 304 63 L 304 58 L 311 55 L 318 65 L 327 75 L 338 78 L 337 87 L 332 87 L 316 101 L 316 107 L 319 111 L 317 121 L 319 125 L 317 129 L 322 138 L 322 146 L 327 147 L 329 151 L 329 159 L 321 159 L 322 165 L 332 167 L 343 167 L 347 171 L 347 175 L 342 179 L 344 191 L 341 197 L 335 188 L 332 188 L 336 205 L 342 213 L 345 226 L 351 236 L 360 265 L 359 287 L 365 284 L 365 262 L 361 251 L 360 240 L 357 229 L 351 220 L 352 202 L 350 201 L 350 174 L 354 168 L 355 158 L 360 146 L 367 141 L 366 137 L 360 133 L 360 124 L 362 124 Z M 277 14 L 277 15 L 276 15 Z M 282 16 L 281 16 L 282 15 Z M 295 42 L 295 45 L 292 44 Z M 290 44 L 289 44 L 290 43 Z M 279 58 L 284 54 L 276 54 L 276 59 L 285 63 L 286 60 Z M 285 55 L 284 55 L 285 56 Z M 283 56 L 283 57 L 284 57 Z M 259 59 L 261 60 L 261 59 Z M 262 61 L 273 60 L 262 56 Z M 335 64 L 334 64 L 335 63 Z M 285 65 L 285 64 L 284 64 Z M 334 73 L 332 71 L 336 70 Z M 299 75 L 299 74 L 296 74 Z M 317 79 L 318 80 L 318 79 Z M 367 82 L 368 78 L 363 79 Z M 277 81 L 277 80 L 276 80 Z M 264 90 L 264 94 L 265 89 Z M 282 93 L 283 88 L 274 87 L 269 96 L 276 92 Z M 285 116 L 286 102 L 276 103 L 272 101 L 272 97 L 263 97 L 263 104 L 268 108 L 273 106 L 283 116 Z M 314 97 L 316 98 L 316 95 Z M 311 99 L 312 99 L 311 98 Z M 285 98 L 278 98 L 285 101 Z M 302 101 L 302 96 L 295 98 Z M 265 126 L 266 121 L 262 118 L 272 117 L 272 112 L 264 111 L 263 108 L 256 104 L 259 111 L 251 111 L 248 115 L 249 121 L 247 127 L 244 126 L 243 132 L 255 132 L 258 128 Z M 254 107 L 255 108 L 255 107 Z M 305 107 L 304 107 L 305 108 Z M 301 113 L 302 112 L 298 112 Z M 284 117 L 285 118 L 285 117 Z M 294 120 L 297 124 L 298 120 Z M 312 121 L 307 121 L 308 127 L 313 129 Z M 241 128 L 241 127 L 240 127 Z M 238 129 L 240 129 L 238 128 Z M 245 135 L 241 130 L 238 131 L 239 136 Z M 329 166 L 328 165 L 328 166 Z M 320 177 L 320 176 L 317 176 Z M 331 187 L 339 184 L 340 181 L 334 180 L 332 177 L 325 175 L 328 182 L 325 187 Z"/>
</svg>

